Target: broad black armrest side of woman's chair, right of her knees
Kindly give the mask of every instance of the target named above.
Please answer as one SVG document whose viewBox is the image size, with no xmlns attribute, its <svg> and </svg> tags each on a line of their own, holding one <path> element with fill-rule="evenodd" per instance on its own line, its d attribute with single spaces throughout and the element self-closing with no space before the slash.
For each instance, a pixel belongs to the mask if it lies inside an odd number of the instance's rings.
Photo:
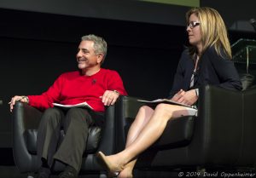
<svg viewBox="0 0 256 178">
<path fill-rule="evenodd" d="M 189 162 L 236 162 L 234 155 L 239 155 L 241 149 L 242 108 L 241 91 L 212 85 L 200 89 L 198 118 L 189 144 Z"/>
</svg>

